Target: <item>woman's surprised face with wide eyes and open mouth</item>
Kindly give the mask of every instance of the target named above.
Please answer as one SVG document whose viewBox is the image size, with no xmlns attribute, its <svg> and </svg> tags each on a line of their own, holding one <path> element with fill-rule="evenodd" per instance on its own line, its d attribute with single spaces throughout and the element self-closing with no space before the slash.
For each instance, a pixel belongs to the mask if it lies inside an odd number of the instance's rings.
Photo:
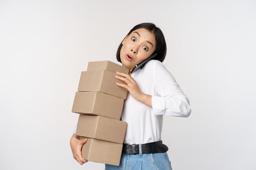
<svg viewBox="0 0 256 170">
<path fill-rule="evenodd" d="M 136 29 L 122 42 L 120 59 L 123 66 L 132 70 L 155 51 L 155 35 L 147 29 Z"/>
</svg>

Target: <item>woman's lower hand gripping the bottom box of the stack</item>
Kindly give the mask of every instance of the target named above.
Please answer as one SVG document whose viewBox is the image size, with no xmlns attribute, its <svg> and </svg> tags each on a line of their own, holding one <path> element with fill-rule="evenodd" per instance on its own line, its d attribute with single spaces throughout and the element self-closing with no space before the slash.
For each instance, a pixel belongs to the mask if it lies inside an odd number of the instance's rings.
<svg viewBox="0 0 256 170">
<path fill-rule="evenodd" d="M 72 137 L 70 139 L 70 147 L 71 147 L 71 150 L 73 153 L 73 157 L 81 165 L 83 165 L 83 163 L 87 162 L 87 160 L 83 159 L 82 152 L 81 152 L 81 148 L 82 148 L 83 144 L 85 144 L 87 142 L 87 140 L 88 140 L 87 138 L 83 139 L 83 140 L 79 140 L 79 136 L 77 136 L 75 133 L 72 135 Z"/>
</svg>

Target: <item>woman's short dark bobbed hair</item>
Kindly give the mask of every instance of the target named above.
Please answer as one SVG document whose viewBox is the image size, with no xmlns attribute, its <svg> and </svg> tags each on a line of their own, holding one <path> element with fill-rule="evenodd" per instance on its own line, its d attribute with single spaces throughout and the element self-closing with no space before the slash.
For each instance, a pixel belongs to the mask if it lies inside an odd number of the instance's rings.
<svg viewBox="0 0 256 170">
<path fill-rule="evenodd" d="M 147 29 L 148 31 L 151 31 L 152 33 L 154 33 L 156 48 L 153 53 L 158 53 L 157 56 L 155 56 L 154 60 L 159 60 L 160 62 L 163 62 L 166 55 L 166 42 L 164 39 L 164 34 L 162 33 L 161 29 L 159 29 L 158 27 L 155 26 L 155 24 L 152 24 L 152 23 L 141 23 L 133 27 L 127 35 L 130 35 L 132 31 L 140 28 Z M 122 42 L 117 49 L 116 57 L 118 62 L 121 62 L 120 51 L 123 46 Z"/>
</svg>

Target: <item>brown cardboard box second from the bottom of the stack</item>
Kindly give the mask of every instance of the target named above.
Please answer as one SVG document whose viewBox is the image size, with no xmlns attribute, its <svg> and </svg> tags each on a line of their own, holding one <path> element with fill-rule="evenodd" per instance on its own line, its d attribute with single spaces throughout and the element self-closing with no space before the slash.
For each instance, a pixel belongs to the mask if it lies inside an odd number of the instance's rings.
<svg viewBox="0 0 256 170">
<path fill-rule="evenodd" d="M 127 123 L 102 116 L 80 115 L 76 135 L 123 144 Z"/>
</svg>

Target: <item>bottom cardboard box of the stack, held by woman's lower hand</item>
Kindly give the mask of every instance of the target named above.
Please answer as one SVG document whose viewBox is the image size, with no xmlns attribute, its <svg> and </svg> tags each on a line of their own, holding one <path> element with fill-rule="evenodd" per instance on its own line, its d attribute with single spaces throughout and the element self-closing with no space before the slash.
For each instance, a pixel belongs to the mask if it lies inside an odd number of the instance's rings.
<svg viewBox="0 0 256 170">
<path fill-rule="evenodd" d="M 80 137 L 85 139 L 86 137 Z M 82 147 L 83 159 L 119 166 L 123 144 L 88 138 Z"/>
</svg>

